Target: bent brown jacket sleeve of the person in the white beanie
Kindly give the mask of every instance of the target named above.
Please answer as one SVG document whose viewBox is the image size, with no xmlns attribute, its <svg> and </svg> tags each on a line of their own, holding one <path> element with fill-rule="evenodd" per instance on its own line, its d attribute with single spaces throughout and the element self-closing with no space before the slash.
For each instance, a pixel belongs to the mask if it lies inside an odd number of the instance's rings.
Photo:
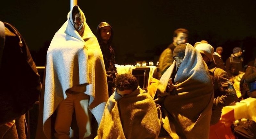
<svg viewBox="0 0 256 139">
<path fill-rule="evenodd" d="M 221 93 L 221 96 L 218 96 L 214 99 L 214 106 L 228 106 L 230 103 L 234 102 L 237 99 L 237 95 L 233 83 L 228 80 L 228 75 L 226 71 L 221 70 L 219 72 L 217 82 L 218 91 Z"/>
</svg>

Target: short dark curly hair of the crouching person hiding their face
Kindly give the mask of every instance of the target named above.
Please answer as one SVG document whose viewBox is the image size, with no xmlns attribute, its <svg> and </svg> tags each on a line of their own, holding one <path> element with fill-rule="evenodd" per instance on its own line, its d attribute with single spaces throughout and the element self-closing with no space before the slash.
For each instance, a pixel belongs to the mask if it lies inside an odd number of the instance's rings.
<svg viewBox="0 0 256 139">
<path fill-rule="evenodd" d="M 137 81 L 137 78 L 131 74 L 127 74 L 127 73 L 120 74 L 116 77 L 115 87 L 120 91 L 124 91 L 124 90 L 134 91 L 135 89 L 138 88 L 138 81 Z"/>
</svg>

